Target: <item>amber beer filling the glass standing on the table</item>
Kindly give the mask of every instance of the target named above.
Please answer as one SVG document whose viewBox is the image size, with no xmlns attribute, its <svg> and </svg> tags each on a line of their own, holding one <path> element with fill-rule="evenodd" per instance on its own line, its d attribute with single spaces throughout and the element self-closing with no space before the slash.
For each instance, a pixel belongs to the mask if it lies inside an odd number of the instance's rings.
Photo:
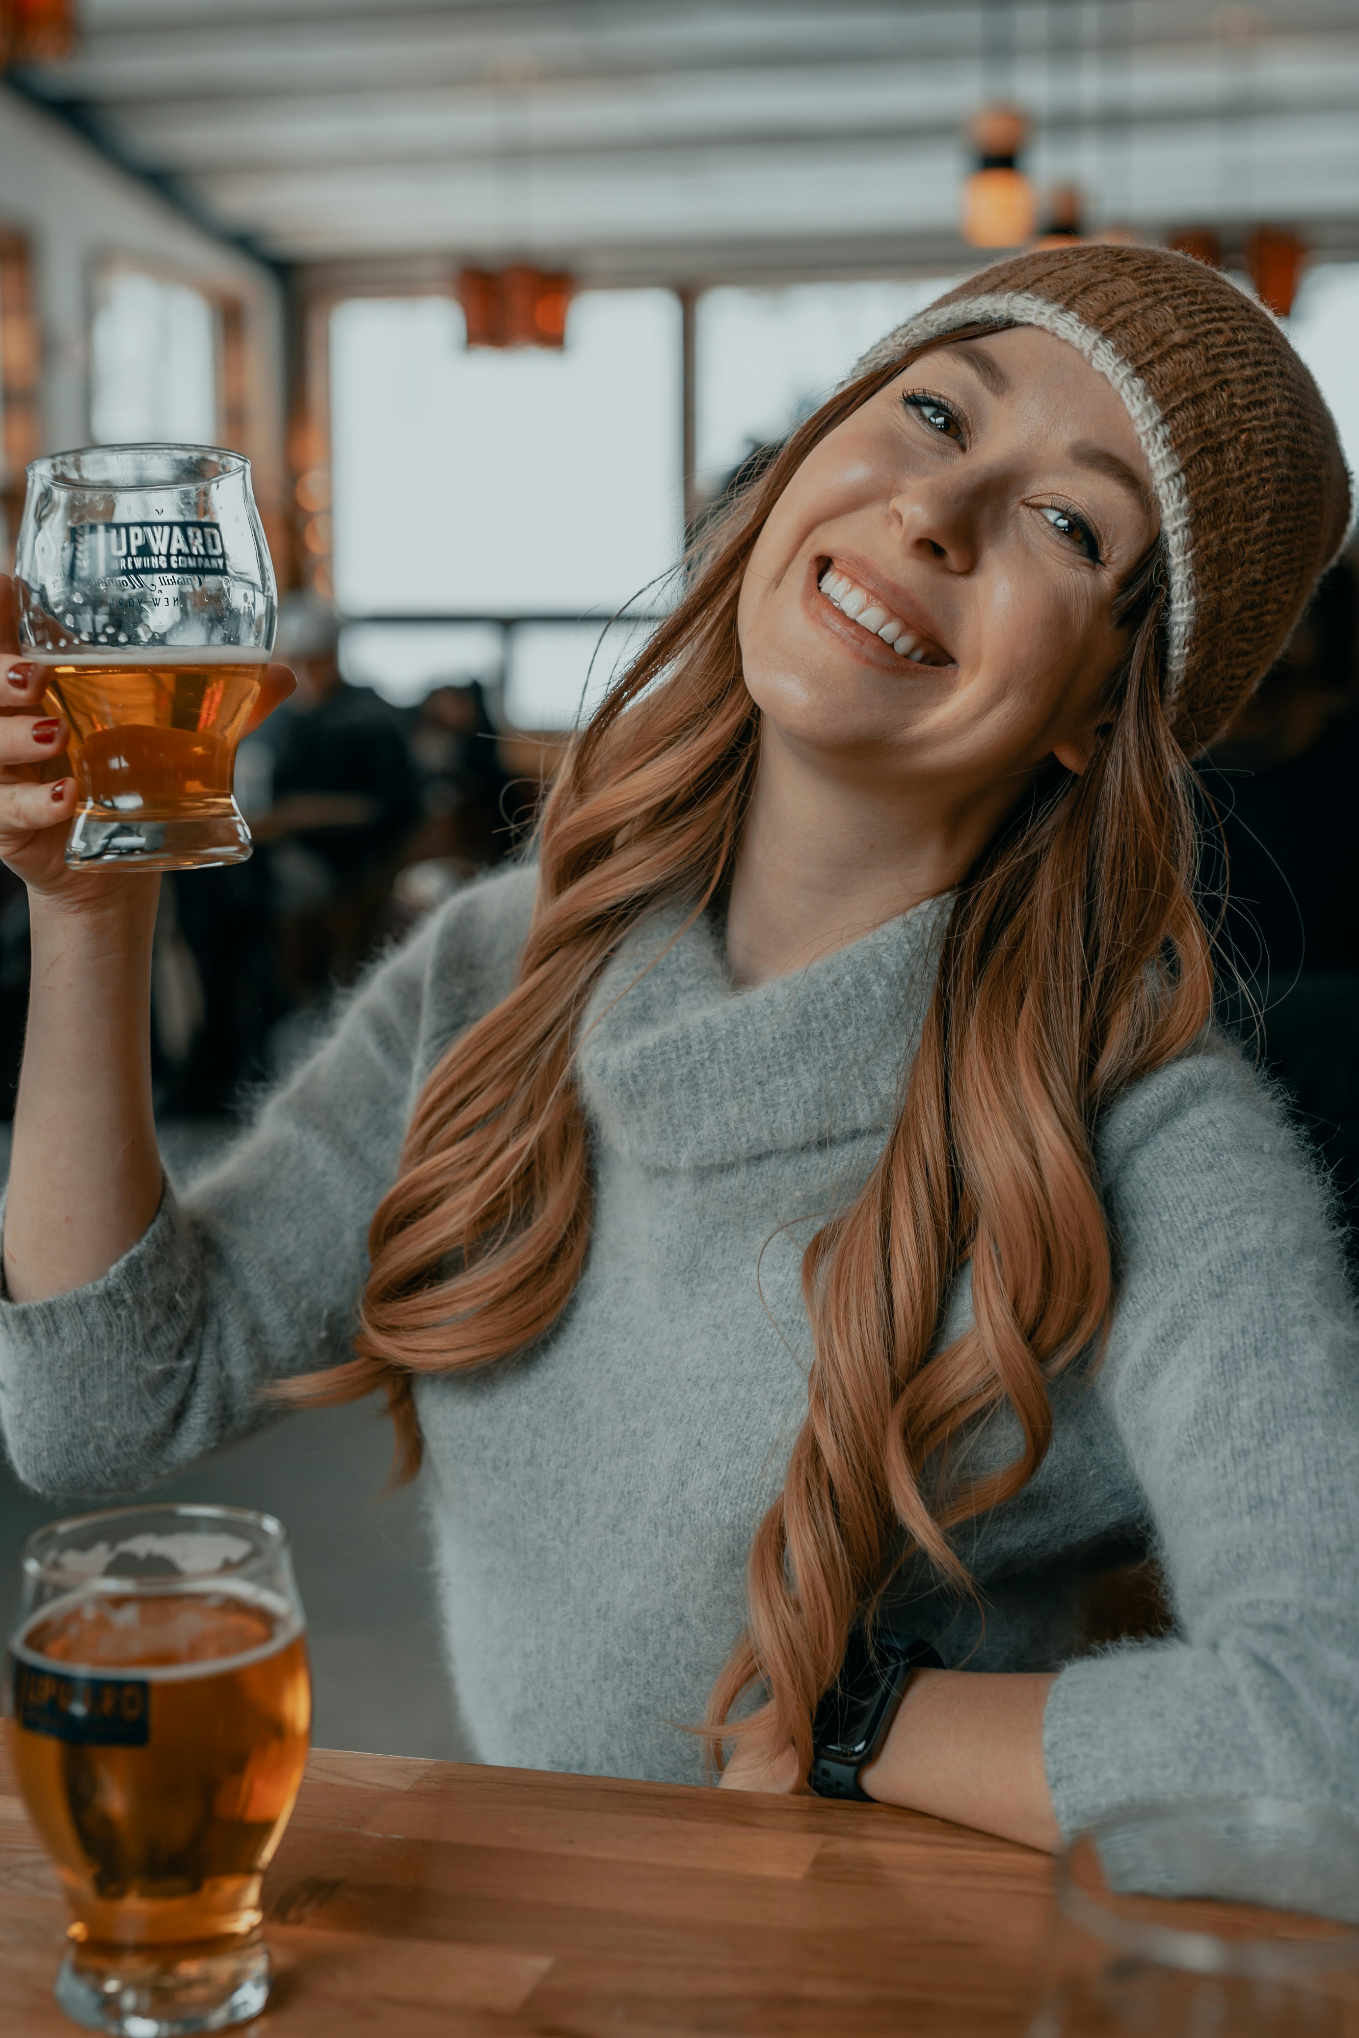
<svg viewBox="0 0 1359 2038">
<path fill-rule="evenodd" d="M 247 1586 L 81 1594 L 10 1655 L 12 1759 L 81 1956 L 255 1934 L 308 1755 L 295 1608 Z"/>
</svg>

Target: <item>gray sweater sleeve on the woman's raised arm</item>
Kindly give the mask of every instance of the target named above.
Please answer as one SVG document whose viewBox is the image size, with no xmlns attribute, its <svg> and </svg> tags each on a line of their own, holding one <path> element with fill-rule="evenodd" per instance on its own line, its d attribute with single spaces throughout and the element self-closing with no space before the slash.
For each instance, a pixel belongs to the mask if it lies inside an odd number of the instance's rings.
<svg viewBox="0 0 1359 2038">
<path fill-rule="evenodd" d="M 373 1211 L 448 1039 L 513 978 L 522 872 L 432 915 L 100 1280 L 0 1302 L 0 1425 L 43 1494 L 128 1492 L 257 1425 L 261 1388 L 350 1357 Z"/>
</svg>

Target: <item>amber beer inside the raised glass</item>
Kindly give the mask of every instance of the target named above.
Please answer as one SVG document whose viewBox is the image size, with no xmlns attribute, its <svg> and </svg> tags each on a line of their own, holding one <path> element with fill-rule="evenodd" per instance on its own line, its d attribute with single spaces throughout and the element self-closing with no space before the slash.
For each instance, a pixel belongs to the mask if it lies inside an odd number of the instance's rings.
<svg viewBox="0 0 1359 2038">
<path fill-rule="evenodd" d="M 47 709 L 71 726 L 92 819 L 230 821 L 236 744 L 265 660 L 240 650 L 88 652 L 47 666 Z"/>
</svg>

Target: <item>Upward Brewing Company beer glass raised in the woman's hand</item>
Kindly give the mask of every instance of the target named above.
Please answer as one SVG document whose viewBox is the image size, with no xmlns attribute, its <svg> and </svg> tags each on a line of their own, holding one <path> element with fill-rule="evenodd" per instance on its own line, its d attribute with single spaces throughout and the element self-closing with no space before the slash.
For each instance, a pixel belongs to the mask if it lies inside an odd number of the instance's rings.
<svg viewBox="0 0 1359 2038">
<path fill-rule="evenodd" d="M 20 648 L 71 726 L 67 864 L 242 862 L 232 764 L 277 622 L 251 463 L 218 446 L 33 461 L 14 591 Z"/>
</svg>

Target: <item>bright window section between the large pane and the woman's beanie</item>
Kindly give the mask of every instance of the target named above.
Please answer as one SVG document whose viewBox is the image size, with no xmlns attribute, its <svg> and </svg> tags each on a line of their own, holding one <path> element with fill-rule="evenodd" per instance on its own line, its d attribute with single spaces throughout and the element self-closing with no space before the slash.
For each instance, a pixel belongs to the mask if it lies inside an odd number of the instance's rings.
<svg viewBox="0 0 1359 2038">
<path fill-rule="evenodd" d="M 858 357 L 947 281 L 709 289 L 697 322 L 697 481 L 705 495 L 825 401 Z"/>
</svg>

